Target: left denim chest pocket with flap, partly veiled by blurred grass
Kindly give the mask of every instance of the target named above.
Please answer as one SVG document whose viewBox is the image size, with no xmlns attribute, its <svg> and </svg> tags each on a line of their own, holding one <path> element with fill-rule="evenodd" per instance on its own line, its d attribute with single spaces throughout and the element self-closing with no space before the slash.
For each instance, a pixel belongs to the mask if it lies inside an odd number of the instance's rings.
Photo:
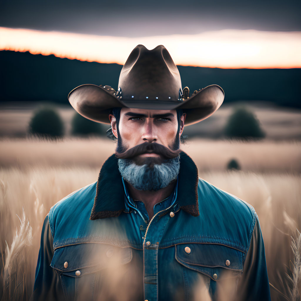
<svg viewBox="0 0 301 301">
<path fill-rule="evenodd" d="M 132 260 L 131 248 L 108 244 L 73 244 L 54 251 L 51 267 L 61 278 L 64 297 L 67 300 L 93 299 L 95 285 L 108 271 L 118 270 Z"/>
</svg>

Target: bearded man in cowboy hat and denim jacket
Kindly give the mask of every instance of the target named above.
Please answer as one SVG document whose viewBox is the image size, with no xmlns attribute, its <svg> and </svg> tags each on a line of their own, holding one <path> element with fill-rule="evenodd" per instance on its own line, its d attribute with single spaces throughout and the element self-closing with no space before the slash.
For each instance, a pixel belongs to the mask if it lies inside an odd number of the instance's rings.
<svg viewBox="0 0 301 301">
<path fill-rule="evenodd" d="M 180 150 L 184 125 L 215 112 L 222 88 L 189 95 L 163 45 L 138 45 L 117 92 L 82 85 L 68 98 L 109 119 L 117 147 L 96 182 L 46 216 L 33 299 L 270 300 L 253 207 L 198 178 Z"/>
</svg>

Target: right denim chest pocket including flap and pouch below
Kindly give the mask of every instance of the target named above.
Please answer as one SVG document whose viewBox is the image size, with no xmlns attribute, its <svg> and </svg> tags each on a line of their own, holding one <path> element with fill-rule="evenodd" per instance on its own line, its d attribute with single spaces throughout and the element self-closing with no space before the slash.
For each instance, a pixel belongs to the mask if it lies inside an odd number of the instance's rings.
<svg viewBox="0 0 301 301">
<path fill-rule="evenodd" d="M 195 288 L 202 286 L 211 296 L 222 286 L 235 294 L 243 270 L 239 250 L 220 244 L 177 244 L 175 259 L 183 266 L 186 299 L 195 297 Z"/>
</svg>

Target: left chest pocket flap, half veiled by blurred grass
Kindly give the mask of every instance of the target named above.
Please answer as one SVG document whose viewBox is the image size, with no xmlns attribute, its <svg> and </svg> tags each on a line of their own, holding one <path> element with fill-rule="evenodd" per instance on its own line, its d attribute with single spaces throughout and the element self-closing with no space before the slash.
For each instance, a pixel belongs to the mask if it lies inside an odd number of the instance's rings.
<svg viewBox="0 0 301 301">
<path fill-rule="evenodd" d="M 108 244 L 84 243 L 56 249 L 50 266 L 59 273 L 81 277 L 104 268 L 124 265 L 131 260 L 131 248 L 119 248 Z"/>
</svg>

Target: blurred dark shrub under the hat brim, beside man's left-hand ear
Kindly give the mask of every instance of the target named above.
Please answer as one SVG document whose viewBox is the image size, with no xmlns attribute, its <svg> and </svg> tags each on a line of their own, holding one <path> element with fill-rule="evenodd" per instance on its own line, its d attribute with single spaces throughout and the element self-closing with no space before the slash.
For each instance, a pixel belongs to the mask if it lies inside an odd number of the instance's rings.
<svg viewBox="0 0 301 301">
<path fill-rule="evenodd" d="M 71 127 L 72 135 L 106 135 L 106 129 L 101 123 L 89 120 L 77 112 L 72 118 Z"/>
</svg>

